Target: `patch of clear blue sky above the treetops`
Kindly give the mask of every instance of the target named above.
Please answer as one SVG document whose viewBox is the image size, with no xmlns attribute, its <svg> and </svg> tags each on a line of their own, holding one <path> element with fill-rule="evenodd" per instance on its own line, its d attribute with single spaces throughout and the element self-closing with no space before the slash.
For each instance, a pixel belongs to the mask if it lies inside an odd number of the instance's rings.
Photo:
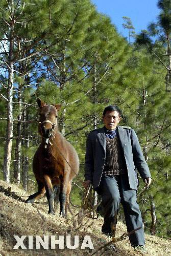
<svg viewBox="0 0 171 256">
<path fill-rule="evenodd" d="M 117 31 L 123 36 L 128 36 L 127 30 L 122 26 L 123 16 L 130 17 L 135 32 L 147 29 L 151 22 L 156 22 L 160 10 L 157 0 L 91 0 L 99 12 L 110 16 Z"/>
</svg>

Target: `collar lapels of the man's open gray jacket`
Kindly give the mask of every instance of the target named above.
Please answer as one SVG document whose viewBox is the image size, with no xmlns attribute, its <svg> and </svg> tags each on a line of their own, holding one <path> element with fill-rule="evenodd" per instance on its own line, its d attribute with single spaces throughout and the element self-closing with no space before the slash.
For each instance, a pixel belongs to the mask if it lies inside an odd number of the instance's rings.
<svg viewBox="0 0 171 256">
<path fill-rule="evenodd" d="M 117 125 L 117 129 L 118 129 L 118 134 L 119 134 L 119 139 L 120 139 L 121 147 L 124 147 L 125 146 L 127 132 L 126 132 L 126 130 L 122 126 L 119 126 L 119 125 Z M 101 145 L 103 146 L 104 151 L 106 151 L 105 127 L 102 127 L 102 128 L 100 128 L 98 130 L 97 138 L 99 139 Z"/>
</svg>

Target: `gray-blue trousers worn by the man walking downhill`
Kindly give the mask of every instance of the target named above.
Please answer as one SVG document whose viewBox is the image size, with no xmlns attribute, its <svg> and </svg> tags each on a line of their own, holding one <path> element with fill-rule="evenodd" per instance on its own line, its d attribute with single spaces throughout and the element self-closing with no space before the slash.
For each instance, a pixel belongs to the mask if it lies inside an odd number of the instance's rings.
<svg viewBox="0 0 171 256">
<path fill-rule="evenodd" d="M 133 246 L 144 245 L 143 223 L 139 205 L 136 201 L 136 190 L 130 188 L 128 175 L 103 176 L 100 186 L 96 191 L 102 196 L 102 206 L 104 209 L 102 232 L 109 235 L 112 234 L 111 222 L 115 221 L 115 216 L 121 202 L 124 208 L 128 232 L 141 227 L 129 237 L 131 244 Z"/>
</svg>

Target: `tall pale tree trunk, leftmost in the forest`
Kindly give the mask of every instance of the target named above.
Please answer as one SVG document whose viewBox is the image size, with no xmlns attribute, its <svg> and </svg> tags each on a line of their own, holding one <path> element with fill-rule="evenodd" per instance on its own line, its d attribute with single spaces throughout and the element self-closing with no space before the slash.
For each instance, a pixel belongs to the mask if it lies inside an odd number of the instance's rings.
<svg viewBox="0 0 171 256">
<path fill-rule="evenodd" d="M 14 1 L 10 0 L 11 18 L 14 14 Z M 11 152 L 12 152 L 12 139 L 13 139 L 13 76 L 14 76 L 14 62 L 13 62 L 13 50 L 14 50 L 14 20 L 11 20 L 10 38 L 9 38 L 9 63 L 8 63 L 8 91 L 7 91 L 7 135 L 6 135 L 6 145 L 4 154 L 4 180 L 10 182 L 10 162 L 11 162 Z"/>
</svg>

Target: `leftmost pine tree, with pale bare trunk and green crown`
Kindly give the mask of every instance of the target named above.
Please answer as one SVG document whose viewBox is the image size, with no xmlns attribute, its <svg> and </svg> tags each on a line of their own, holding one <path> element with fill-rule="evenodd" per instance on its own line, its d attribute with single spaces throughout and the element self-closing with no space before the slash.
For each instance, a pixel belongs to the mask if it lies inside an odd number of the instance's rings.
<svg viewBox="0 0 171 256">
<path fill-rule="evenodd" d="M 42 1 L 41 8 L 37 9 L 37 6 L 39 5 L 39 1 L 34 1 L 34 3 L 30 4 L 29 1 L 22 2 L 11 0 L 9 4 L 6 1 L 2 1 L 0 6 L 2 23 L 1 42 L 4 50 L 4 52 L 1 53 L 2 66 L 4 69 L 4 74 L 8 79 L 7 97 L 4 97 L 7 102 L 8 117 L 6 150 L 3 167 L 4 178 L 7 182 L 10 181 L 10 162 L 13 138 L 14 71 L 16 73 L 16 77 L 18 74 L 25 75 L 18 71 L 18 66 L 23 62 L 28 65 L 28 61 L 33 59 L 33 57 L 35 61 L 34 65 L 36 65 L 36 62 L 39 61 L 41 56 L 40 54 L 43 53 L 47 47 L 49 47 L 42 45 L 42 40 L 47 37 L 48 34 L 52 33 L 52 27 L 48 27 L 50 24 L 50 9 L 48 3 L 46 3 L 46 1 Z M 35 30 L 35 26 L 37 30 Z M 59 38 L 59 40 L 61 39 Z M 42 48 L 40 46 L 42 46 Z M 7 48 L 9 48 L 9 51 Z M 6 56 L 8 57 L 6 58 Z M 17 84 L 17 79 L 15 80 Z M 20 96 L 19 98 L 21 99 Z M 19 104 L 19 106 L 21 106 L 21 104 Z M 21 113 L 19 116 L 21 116 Z M 18 124 L 18 127 L 19 126 L 20 124 Z M 17 152 L 19 151 L 17 150 Z"/>
</svg>

